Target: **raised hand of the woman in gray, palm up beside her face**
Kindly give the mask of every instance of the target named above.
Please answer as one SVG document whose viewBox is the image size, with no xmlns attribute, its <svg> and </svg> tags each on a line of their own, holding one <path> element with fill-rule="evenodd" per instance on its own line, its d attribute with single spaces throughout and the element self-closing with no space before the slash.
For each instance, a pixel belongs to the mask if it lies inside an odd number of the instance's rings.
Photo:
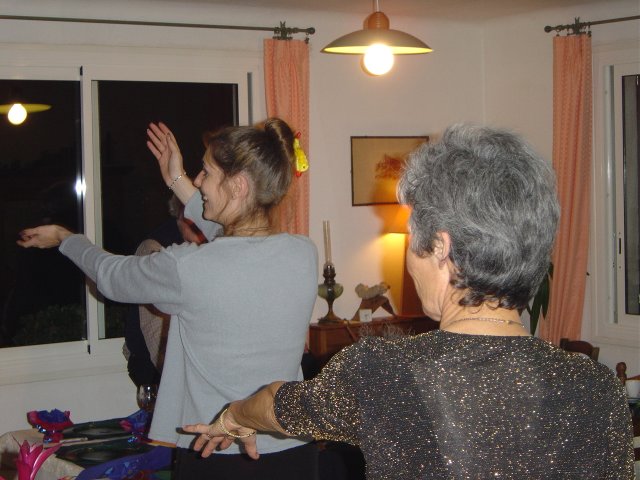
<svg viewBox="0 0 640 480">
<path fill-rule="evenodd" d="M 182 154 L 173 133 L 162 122 L 150 123 L 147 137 L 147 147 L 158 160 L 164 183 L 183 204 L 186 204 L 195 193 L 196 187 L 184 171 Z"/>
</svg>

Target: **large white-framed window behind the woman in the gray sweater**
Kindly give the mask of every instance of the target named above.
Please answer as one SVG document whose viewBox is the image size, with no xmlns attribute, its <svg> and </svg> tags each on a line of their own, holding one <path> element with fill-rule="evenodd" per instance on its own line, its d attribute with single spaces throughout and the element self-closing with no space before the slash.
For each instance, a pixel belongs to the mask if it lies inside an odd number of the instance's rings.
<svg viewBox="0 0 640 480">
<path fill-rule="evenodd" d="M 18 231 L 60 222 L 116 253 L 133 253 L 168 218 L 170 192 L 146 148 L 148 123 L 172 128 L 195 175 L 205 131 L 252 121 L 259 59 L 114 50 L 111 58 L 52 48 L 31 61 L 56 67 L 25 67 L 29 52 L 2 49 L 0 103 L 20 90 L 36 99 L 29 102 L 54 106 L 22 126 L 0 117 L 0 384 L 125 368 L 119 337 L 127 307 L 100 298 L 55 249 L 18 248 Z M 96 58 L 107 64 L 95 65 Z M 28 294 L 16 301 L 17 291 Z"/>
</svg>

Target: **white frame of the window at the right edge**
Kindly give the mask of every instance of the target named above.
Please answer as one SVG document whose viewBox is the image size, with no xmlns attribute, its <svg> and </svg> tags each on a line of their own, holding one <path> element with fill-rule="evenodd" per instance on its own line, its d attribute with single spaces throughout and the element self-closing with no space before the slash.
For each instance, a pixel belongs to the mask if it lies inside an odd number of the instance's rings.
<svg viewBox="0 0 640 480">
<path fill-rule="evenodd" d="M 593 294 L 587 296 L 591 307 L 592 339 L 603 343 L 637 347 L 640 343 L 640 317 L 620 315 L 617 293 L 616 212 L 623 205 L 616 202 L 616 175 L 620 169 L 616 158 L 616 99 L 614 68 L 638 63 L 640 43 L 594 48 L 594 155 L 592 175 L 591 239 L 589 273 Z M 618 176 L 619 177 L 619 176 Z M 619 178 L 618 178 L 619 180 Z M 637 317 L 637 316 L 634 316 Z"/>
</svg>

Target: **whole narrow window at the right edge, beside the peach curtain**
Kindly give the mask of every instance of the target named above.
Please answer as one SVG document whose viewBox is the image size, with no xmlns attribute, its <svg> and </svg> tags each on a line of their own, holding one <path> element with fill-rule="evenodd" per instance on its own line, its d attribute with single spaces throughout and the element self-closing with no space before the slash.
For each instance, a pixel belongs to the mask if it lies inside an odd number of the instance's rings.
<svg viewBox="0 0 640 480">
<path fill-rule="evenodd" d="M 594 340 L 640 342 L 637 46 L 594 51 Z"/>
</svg>

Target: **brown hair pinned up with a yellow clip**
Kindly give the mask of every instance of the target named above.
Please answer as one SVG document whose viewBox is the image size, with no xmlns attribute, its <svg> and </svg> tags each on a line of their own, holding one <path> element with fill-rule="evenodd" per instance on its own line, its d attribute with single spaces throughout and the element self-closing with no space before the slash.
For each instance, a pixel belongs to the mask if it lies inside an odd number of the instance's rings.
<svg viewBox="0 0 640 480">
<path fill-rule="evenodd" d="M 246 173 L 253 182 L 253 213 L 268 215 L 289 190 L 294 134 L 279 118 L 206 134 L 205 145 L 225 177 Z M 252 212 L 250 212 L 251 214 Z"/>
</svg>

